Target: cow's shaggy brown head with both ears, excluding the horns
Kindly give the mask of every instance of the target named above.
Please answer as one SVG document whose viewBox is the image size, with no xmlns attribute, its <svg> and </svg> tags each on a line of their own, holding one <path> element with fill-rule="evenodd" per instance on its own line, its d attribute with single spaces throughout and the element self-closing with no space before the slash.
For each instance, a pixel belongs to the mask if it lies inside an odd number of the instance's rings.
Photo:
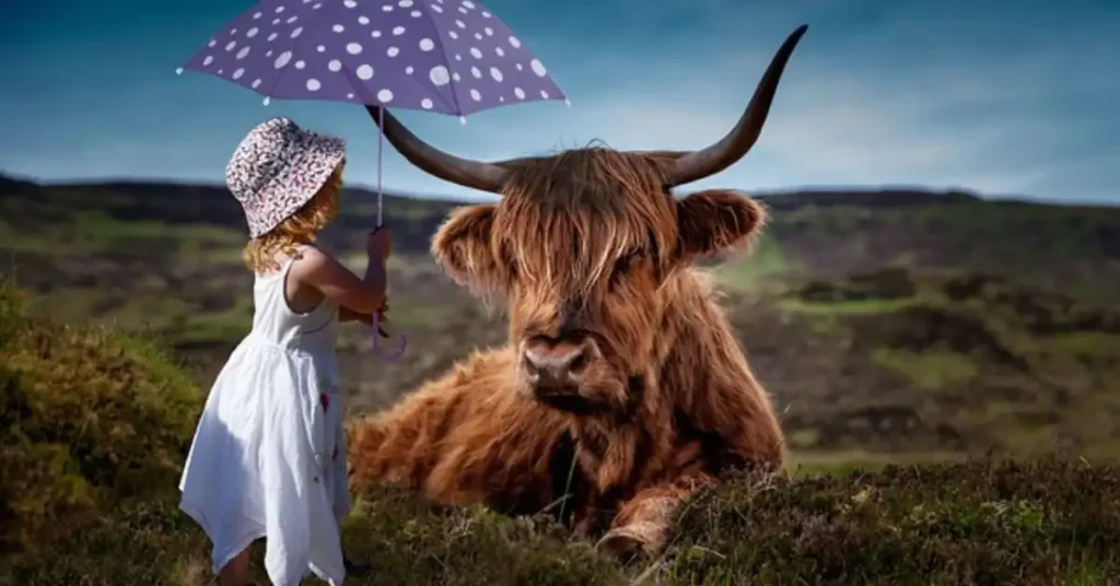
<svg viewBox="0 0 1120 586">
<path fill-rule="evenodd" d="M 656 159 L 608 149 L 531 161 L 503 194 L 457 211 L 432 252 L 505 299 L 520 390 L 576 413 L 631 408 L 656 361 L 666 279 L 748 242 L 764 218 L 735 192 L 674 199 Z"/>
</svg>

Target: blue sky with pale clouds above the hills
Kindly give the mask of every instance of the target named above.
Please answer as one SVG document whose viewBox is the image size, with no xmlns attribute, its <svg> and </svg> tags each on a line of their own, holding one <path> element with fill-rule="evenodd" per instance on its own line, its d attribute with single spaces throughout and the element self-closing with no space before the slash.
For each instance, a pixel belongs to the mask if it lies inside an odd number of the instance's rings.
<svg viewBox="0 0 1120 586">
<path fill-rule="evenodd" d="M 505 159 L 592 141 L 702 148 L 731 128 L 773 53 L 808 24 L 755 148 L 682 190 L 925 186 L 1120 204 L 1117 0 L 483 3 L 571 103 L 503 106 L 466 124 L 392 110 L 460 156 Z M 218 183 L 245 132 L 286 115 L 344 137 L 347 183 L 375 185 L 379 133 L 362 108 L 264 105 L 228 81 L 176 74 L 251 6 L 0 1 L 0 170 L 47 182 Z M 388 142 L 384 149 L 389 189 L 492 198 L 426 175 Z"/>
</svg>

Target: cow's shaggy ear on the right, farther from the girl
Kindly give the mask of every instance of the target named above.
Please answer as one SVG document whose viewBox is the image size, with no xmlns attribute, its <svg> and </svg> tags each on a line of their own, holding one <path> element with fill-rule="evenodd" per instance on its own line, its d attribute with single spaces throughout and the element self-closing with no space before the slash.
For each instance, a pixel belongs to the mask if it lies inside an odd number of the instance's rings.
<svg viewBox="0 0 1120 586">
<path fill-rule="evenodd" d="M 676 201 L 682 259 L 747 249 L 766 222 L 766 210 L 743 192 L 709 189 Z"/>
</svg>

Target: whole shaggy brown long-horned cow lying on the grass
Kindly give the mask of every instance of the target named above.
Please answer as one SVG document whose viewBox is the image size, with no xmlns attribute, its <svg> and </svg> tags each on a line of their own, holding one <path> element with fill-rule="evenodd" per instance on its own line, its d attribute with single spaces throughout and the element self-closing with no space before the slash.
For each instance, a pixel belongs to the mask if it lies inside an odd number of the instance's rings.
<svg viewBox="0 0 1120 586">
<path fill-rule="evenodd" d="M 352 481 L 508 513 L 562 500 L 577 533 L 609 529 L 598 547 L 622 552 L 659 549 L 681 500 L 722 472 L 780 464 L 769 398 L 691 268 L 748 245 L 764 211 L 731 190 L 676 199 L 670 189 L 749 150 L 805 28 L 735 129 L 696 152 L 584 148 L 479 162 L 386 113 L 386 138 L 413 165 L 503 196 L 456 211 L 432 253 L 459 283 L 505 301 L 510 342 L 357 422 Z"/>
</svg>

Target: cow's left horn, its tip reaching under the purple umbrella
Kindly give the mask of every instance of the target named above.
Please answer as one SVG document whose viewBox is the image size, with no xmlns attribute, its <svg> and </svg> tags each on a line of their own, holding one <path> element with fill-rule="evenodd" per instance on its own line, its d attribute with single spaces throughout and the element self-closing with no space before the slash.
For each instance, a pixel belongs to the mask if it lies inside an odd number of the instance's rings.
<svg viewBox="0 0 1120 586">
<path fill-rule="evenodd" d="M 367 105 L 366 111 L 373 118 L 373 123 L 380 125 L 379 115 L 384 115 L 382 131 L 389 142 L 412 165 L 464 187 L 498 193 L 505 184 L 507 170 L 491 162 L 464 159 L 432 147 L 404 128 L 389 110 L 377 112 L 376 106 Z"/>
</svg>

